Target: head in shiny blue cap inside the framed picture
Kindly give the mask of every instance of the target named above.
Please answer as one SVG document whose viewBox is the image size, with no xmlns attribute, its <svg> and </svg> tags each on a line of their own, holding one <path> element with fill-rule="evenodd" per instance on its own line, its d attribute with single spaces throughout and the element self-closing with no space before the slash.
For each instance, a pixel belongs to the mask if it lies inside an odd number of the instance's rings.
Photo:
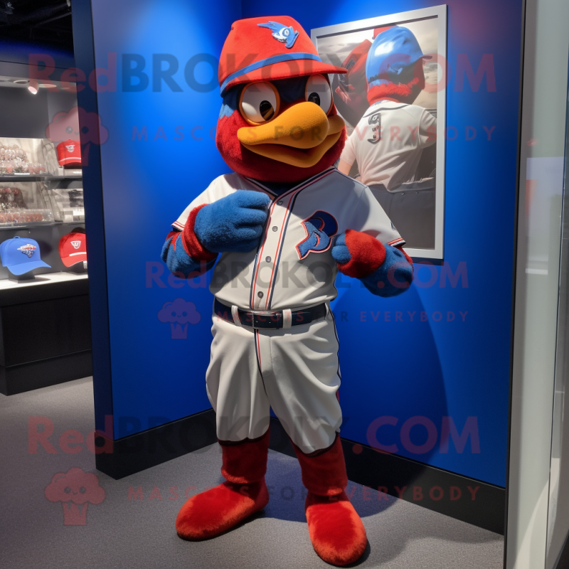
<svg viewBox="0 0 569 569">
<path fill-rule="evenodd" d="M 369 48 L 366 60 L 368 102 L 395 99 L 412 103 L 425 88 L 423 63 L 432 55 L 423 55 L 415 34 L 403 26 L 393 26 L 381 33 Z"/>
</svg>

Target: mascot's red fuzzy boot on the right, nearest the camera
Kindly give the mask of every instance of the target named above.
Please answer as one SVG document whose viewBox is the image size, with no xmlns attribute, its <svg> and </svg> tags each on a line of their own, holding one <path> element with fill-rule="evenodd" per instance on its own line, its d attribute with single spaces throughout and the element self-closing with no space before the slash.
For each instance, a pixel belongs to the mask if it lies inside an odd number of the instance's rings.
<svg viewBox="0 0 569 569">
<path fill-rule="evenodd" d="M 314 551 L 332 565 L 349 565 L 366 550 L 368 538 L 344 489 L 348 485 L 340 437 L 321 454 L 304 454 L 294 445 L 308 489 L 304 509 Z"/>
</svg>

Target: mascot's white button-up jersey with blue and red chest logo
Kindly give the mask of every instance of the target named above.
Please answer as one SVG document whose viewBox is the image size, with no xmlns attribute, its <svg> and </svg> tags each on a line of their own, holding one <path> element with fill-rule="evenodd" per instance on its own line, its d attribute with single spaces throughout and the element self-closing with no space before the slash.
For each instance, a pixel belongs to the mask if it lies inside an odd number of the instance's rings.
<svg viewBox="0 0 569 569">
<path fill-rule="evenodd" d="M 346 229 L 373 235 L 383 244 L 405 243 L 370 189 L 333 167 L 280 196 L 239 174 L 219 176 L 174 228 L 184 229 L 193 208 L 238 190 L 262 191 L 271 203 L 257 250 L 223 253 L 213 271 L 211 292 L 229 306 L 282 310 L 333 300 L 337 267 L 331 246 Z"/>
</svg>

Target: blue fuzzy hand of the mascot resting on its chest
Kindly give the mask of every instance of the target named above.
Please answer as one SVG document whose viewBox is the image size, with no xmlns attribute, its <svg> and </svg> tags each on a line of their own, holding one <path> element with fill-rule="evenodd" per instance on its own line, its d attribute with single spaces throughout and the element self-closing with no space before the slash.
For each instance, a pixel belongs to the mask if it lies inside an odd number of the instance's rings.
<svg viewBox="0 0 569 569">
<path fill-rule="evenodd" d="M 238 190 L 201 208 L 194 233 L 212 252 L 252 251 L 259 244 L 269 202 L 265 193 Z"/>
</svg>

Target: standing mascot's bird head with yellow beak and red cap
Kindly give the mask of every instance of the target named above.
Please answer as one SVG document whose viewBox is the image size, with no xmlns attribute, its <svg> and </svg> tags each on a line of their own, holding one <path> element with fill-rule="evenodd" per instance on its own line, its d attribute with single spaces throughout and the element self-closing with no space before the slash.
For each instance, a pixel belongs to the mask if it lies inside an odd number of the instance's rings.
<svg viewBox="0 0 569 569">
<path fill-rule="evenodd" d="M 262 181 L 302 181 L 339 158 L 346 140 L 324 63 L 288 16 L 231 26 L 219 64 L 216 142 L 231 169 Z"/>
</svg>

